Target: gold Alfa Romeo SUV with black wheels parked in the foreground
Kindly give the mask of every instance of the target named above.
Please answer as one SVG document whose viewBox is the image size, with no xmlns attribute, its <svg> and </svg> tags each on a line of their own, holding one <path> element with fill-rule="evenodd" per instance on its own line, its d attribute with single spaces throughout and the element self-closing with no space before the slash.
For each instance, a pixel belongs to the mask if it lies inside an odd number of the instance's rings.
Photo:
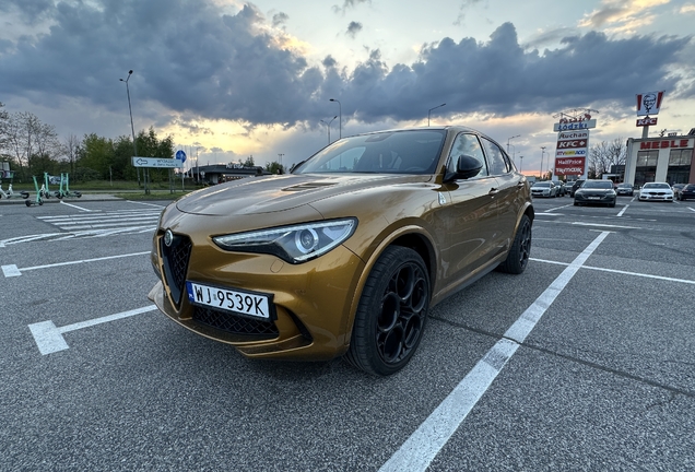
<svg viewBox="0 0 695 472">
<path fill-rule="evenodd" d="M 170 203 L 149 297 L 189 330 L 267 359 L 329 359 L 390 375 L 429 309 L 529 261 L 530 186 L 503 148 L 463 127 L 343 138 L 291 174 Z M 494 306 L 494 300 L 490 300 Z"/>
</svg>

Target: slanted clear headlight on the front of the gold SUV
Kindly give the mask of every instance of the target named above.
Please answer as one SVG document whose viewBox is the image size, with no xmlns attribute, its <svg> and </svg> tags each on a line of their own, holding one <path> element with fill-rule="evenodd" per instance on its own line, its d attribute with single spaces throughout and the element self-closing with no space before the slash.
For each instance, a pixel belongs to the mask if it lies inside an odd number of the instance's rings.
<svg viewBox="0 0 695 472">
<path fill-rule="evenodd" d="M 344 219 L 214 236 L 212 240 L 225 250 L 269 253 L 296 264 L 330 251 L 356 227 L 356 219 Z"/>
</svg>

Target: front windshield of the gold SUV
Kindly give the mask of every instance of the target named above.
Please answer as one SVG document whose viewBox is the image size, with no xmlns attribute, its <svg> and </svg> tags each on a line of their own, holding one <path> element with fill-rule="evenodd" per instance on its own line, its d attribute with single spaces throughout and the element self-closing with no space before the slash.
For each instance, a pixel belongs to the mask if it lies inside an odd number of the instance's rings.
<svg viewBox="0 0 695 472">
<path fill-rule="evenodd" d="M 434 174 L 445 137 L 445 130 L 409 130 L 345 138 L 292 173 Z"/>
</svg>

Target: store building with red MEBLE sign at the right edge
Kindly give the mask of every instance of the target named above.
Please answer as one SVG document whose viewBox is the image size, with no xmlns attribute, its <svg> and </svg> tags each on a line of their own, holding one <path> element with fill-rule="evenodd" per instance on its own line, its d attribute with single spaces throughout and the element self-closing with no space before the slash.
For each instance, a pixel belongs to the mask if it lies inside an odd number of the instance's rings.
<svg viewBox="0 0 695 472">
<path fill-rule="evenodd" d="M 695 128 L 686 135 L 629 138 L 625 162 L 625 181 L 641 187 L 650 181 L 695 182 Z"/>
</svg>

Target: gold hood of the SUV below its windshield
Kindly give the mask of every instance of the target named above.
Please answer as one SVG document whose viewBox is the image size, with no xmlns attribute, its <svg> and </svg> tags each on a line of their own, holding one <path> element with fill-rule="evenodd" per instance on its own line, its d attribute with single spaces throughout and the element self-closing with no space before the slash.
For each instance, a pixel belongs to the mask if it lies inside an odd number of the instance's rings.
<svg viewBox="0 0 695 472">
<path fill-rule="evenodd" d="M 229 216 L 285 211 L 304 204 L 374 187 L 425 182 L 431 176 L 321 174 L 247 177 L 198 190 L 176 202 L 185 213 Z"/>
</svg>

